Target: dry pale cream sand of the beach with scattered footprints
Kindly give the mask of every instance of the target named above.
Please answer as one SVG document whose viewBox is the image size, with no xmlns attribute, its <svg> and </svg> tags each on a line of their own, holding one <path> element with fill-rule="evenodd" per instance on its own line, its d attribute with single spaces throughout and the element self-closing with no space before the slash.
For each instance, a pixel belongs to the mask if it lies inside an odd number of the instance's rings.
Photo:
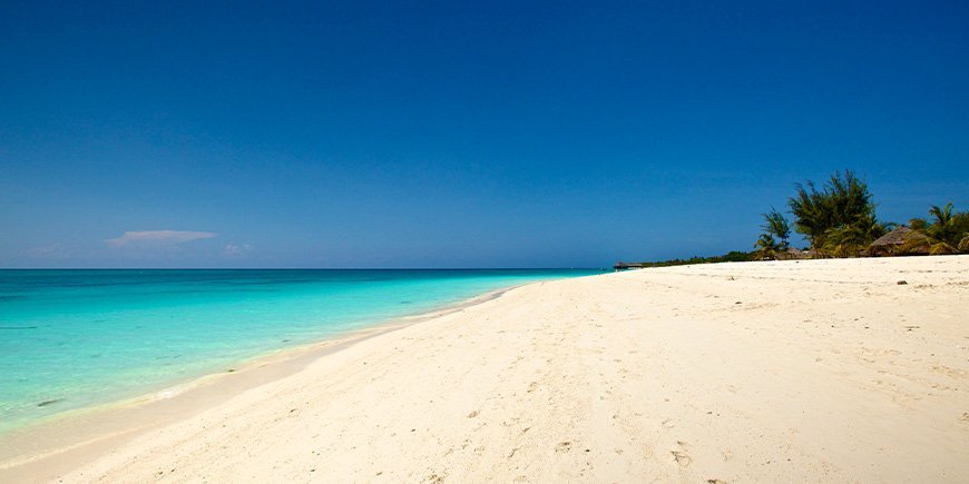
<svg viewBox="0 0 969 484">
<path fill-rule="evenodd" d="M 0 481 L 965 482 L 969 256 L 531 284 L 86 448 Z"/>
</svg>

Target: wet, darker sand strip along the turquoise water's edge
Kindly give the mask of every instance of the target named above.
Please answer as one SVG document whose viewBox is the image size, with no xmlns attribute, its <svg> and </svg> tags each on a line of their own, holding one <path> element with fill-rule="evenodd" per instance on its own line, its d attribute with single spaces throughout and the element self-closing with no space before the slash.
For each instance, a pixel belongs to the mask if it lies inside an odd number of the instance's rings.
<svg viewBox="0 0 969 484">
<path fill-rule="evenodd" d="M 526 283 L 448 304 L 424 313 L 379 320 L 324 339 L 255 355 L 225 372 L 212 372 L 135 397 L 65 411 L 0 434 L 0 476 L 10 470 L 39 467 L 50 474 L 100 455 L 105 448 L 150 429 L 185 419 L 225 401 L 283 379 L 307 365 L 360 342 L 410 325 L 460 312 L 501 297 Z M 148 421 L 148 423 L 145 423 Z M 67 436 L 66 436 L 67 435 Z"/>
</svg>

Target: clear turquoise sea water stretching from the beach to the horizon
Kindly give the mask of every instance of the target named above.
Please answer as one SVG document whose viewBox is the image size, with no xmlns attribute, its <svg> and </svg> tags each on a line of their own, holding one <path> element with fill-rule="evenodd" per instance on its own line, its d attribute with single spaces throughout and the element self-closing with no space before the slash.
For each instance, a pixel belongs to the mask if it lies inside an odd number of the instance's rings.
<svg viewBox="0 0 969 484">
<path fill-rule="evenodd" d="M 0 432 L 591 270 L 0 270 Z"/>
</svg>

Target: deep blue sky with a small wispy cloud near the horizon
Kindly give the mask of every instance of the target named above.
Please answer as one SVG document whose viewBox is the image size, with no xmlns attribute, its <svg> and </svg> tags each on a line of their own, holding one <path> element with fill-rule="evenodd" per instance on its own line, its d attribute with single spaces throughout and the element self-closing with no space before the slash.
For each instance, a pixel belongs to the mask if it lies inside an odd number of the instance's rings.
<svg viewBox="0 0 969 484">
<path fill-rule="evenodd" d="M 0 267 L 604 267 L 969 210 L 969 2 L 0 0 Z M 795 239 L 800 243 L 800 239 Z"/>
</svg>

